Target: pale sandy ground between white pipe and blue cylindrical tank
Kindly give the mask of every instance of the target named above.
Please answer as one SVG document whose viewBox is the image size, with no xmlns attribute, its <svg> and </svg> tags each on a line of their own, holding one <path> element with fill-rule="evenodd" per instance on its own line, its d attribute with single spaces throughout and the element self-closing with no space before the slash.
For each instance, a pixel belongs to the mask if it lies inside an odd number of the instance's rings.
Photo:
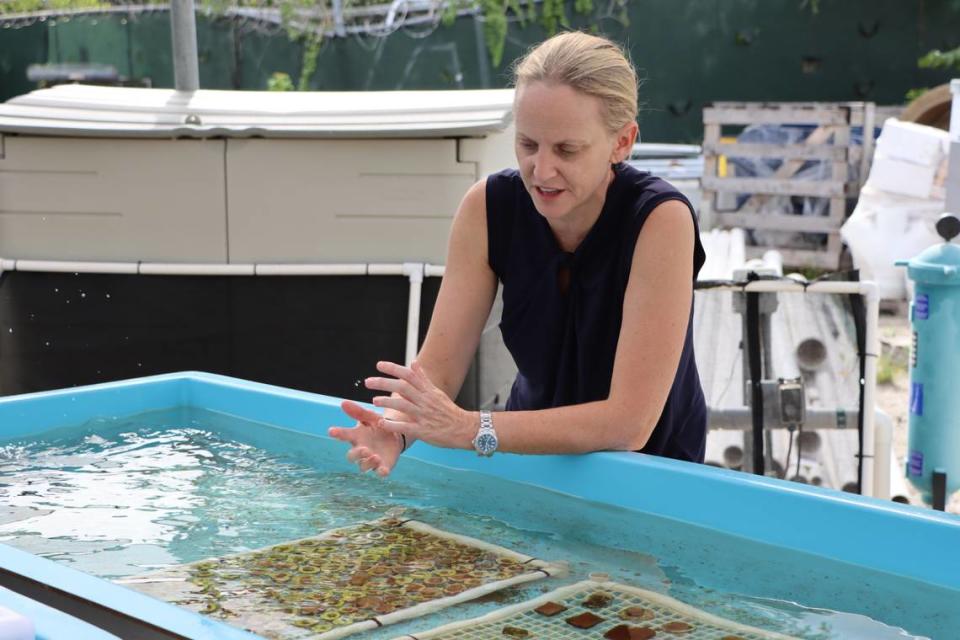
<svg viewBox="0 0 960 640">
<path fill-rule="evenodd" d="M 896 313 L 880 314 L 880 353 L 886 360 L 878 369 L 889 364 L 892 380 L 877 383 L 877 407 L 893 418 L 893 453 L 897 458 L 897 467 L 904 468 L 907 454 L 910 409 L 910 321 L 906 315 L 906 305 Z M 879 378 L 879 376 L 878 376 Z M 910 500 L 914 505 L 922 505 L 920 496 L 907 483 L 911 492 Z M 960 514 L 960 492 L 947 502 L 947 511 Z"/>
</svg>

